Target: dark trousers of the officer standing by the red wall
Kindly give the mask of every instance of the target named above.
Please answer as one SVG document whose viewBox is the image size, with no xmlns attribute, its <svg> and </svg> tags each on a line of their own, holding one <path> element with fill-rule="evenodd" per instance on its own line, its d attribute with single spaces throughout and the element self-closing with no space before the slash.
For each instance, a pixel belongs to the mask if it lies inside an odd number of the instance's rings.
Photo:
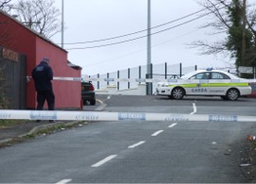
<svg viewBox="0 0 256 184">
<path fill-rule="evenodd" d="M 43 109 L 47 101 L 48 109 L 54 110 L 55 96 L 51 90 L 37 92 L 37 109 Z"/>
</svg>

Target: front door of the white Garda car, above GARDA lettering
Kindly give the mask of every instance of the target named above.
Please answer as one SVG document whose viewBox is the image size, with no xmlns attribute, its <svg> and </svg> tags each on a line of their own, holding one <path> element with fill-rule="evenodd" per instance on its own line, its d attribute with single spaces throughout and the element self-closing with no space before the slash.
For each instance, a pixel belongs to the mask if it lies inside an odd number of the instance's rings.
<svg viewBox="0 0 256 184">
<path fill-rule="evenodd" d="M 210 72 L 202 72 L 190 77 L 190 86 L 186 88 L 187 94 L 208 95 Z"/>
</svg>

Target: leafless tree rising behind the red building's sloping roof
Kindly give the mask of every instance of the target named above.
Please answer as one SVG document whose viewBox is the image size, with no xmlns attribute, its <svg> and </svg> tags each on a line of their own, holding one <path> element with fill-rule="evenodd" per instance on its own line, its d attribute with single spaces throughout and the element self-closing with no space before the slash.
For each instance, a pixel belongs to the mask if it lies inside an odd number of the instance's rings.
<svg viewBox="0 0 256 184">
<path fill-rule="evenodd" d="M 61 32 L 61 13 L 54 0 L 20 0 L 13 9 L 19 21 L 48 39 Z"/>
</svg>

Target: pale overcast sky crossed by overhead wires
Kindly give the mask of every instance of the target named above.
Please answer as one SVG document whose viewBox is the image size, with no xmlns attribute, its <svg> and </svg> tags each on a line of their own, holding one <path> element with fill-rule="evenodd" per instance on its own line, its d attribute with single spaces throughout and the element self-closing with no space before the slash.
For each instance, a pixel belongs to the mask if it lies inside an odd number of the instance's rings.
<svg viewBox="0 0 256 184">
<path fill-rule="evenodd" d="M 56 7 L 62 10 L 62 0 L 55 1 Z M 111 73 L 147 64 L 146 37 L 111 46 L 85 48 L 145 36 L 146 31 L 116 40 L 91 42 L 147 29 L 147 2 L 148 0 L 64 0 L 64 43 L 90 42 L 64 44 L 68 59 L 82 66 L 82 75 Z M 202 9 L 195 0 L 151 0 L 151 7 L 152 26 L 171 22 Z M 153 29 L 152 33 L 182 24 L 196 16 L 160 26 Z M 210 30 L 198 28 L 207 21 L 210 21 L 210 17 L 153 35 L 152 63 L 167 62 L 172 65 L 181 62 L 183 66 L 196 64 L 198 68 L 232 65 L 233 61 L 229 58 L 201 56 L 198 55 L 198 49 L 189 48 L 187 45 L 196 40 L 219 40 L 220 36 L 207 36 Z M 60 43 L 61 33 L 54 36 L 53 41 Z"/>
</svg>

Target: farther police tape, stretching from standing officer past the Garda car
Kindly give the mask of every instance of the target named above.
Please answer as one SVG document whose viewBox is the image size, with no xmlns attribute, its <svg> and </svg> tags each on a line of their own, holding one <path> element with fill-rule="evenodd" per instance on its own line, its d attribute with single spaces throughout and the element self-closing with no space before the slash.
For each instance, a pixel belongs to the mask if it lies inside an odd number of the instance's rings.
<svg viewBox="0 0 256 184">
<path fill-rule="evenodd" d="M 30 81 L 31 76 L 27 76 L 27 82 Z M 99 81 L 99 82 L 170 82 L 170 83 L 208 83 L 219 82 L 218 79 L 159 79 L 159 78 L 98 78 L 98 77 L 65 77 L 53 76 L 53 80 L 67 80 L 67 81 Z M 226 83 L 256 83 L 256 79 L 221 79 Z"/>
</svg>

